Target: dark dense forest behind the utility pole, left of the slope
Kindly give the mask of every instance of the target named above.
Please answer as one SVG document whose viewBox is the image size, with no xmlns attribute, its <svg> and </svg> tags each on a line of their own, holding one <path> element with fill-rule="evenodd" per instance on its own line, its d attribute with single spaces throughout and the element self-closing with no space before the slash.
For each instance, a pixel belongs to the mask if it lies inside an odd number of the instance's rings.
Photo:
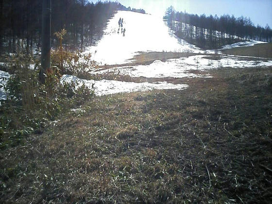
<svg viewBox="0 0 272 204">
<path fill-rule="evenodd" d="M 51 46 L 57 46 L 55 32 L 65 28 L 65 49 L 84 50 L 101 39 L 107 20 L 117 10 L 145 13 L 119 2 L 92 3 L 87 0 L 51 1 Z M 41 0 L 0 0 L 0 54 L 3 51 L 34 53 L 41 48 Z"/>
</svg>

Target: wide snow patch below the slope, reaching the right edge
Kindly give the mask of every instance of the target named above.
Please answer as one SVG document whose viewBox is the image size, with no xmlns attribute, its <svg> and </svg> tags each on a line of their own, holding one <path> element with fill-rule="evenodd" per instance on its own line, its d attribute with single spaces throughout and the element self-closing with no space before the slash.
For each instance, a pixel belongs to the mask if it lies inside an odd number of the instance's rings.
<svg viewBox="0 0 272 204">
<path fill-rule="evenodd" d="M 211 77 L 208 74 L 189 73 L 189 70 L 207 70 L 212 68 L 251 68 L 257 66 L 272 66 L 272 61 L 247 61 L 239 57 L 222 56 L 220 60 L 207 59 L 209 55 L 194 55 L 179 59 L 169 59 L 166 62 L 155 60 L 150 65 L 133 67 L 110 68 L 106 70 L 92 71 L 92 74 L 104 74 L 106 72 L 129 75 L 131 77 L 165 78 L 165 77 Z"/>
</svg>

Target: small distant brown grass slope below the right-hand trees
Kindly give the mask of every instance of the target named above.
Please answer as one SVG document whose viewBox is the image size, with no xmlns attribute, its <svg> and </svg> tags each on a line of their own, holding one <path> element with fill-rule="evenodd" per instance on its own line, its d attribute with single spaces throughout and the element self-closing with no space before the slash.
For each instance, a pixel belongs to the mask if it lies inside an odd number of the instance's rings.
<svg viewBox="0 0 272 204">
<path fill-rule="evenodd" d="M 223 54 L 262 57 L 272 59 L 272 43 L 222 50 Z"/>
</svg>

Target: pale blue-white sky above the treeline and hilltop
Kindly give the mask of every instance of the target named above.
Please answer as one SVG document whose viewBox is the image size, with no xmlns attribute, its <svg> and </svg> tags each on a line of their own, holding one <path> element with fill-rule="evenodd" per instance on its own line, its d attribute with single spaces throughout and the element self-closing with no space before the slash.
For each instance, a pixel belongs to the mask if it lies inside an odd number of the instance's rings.
<svg viewBox="0 0 272 204">
<path fill-rule="evenodd" d="M 98 0 L 89 0 L 94 3 Z M 106 1 L 106 0 L 102 0 Z M 112 0 L 115 1 L 115 0 Z M 189 14 L 221 16 L 233 14 L 235 17 L 250 17 L 255 24 L 272 27 L 272 0 L 118 0 L 131 8 L 142 8 L 146 13 L 163 17 L 166 9 L 172 5 L 176 11 Z"/>
</svg>

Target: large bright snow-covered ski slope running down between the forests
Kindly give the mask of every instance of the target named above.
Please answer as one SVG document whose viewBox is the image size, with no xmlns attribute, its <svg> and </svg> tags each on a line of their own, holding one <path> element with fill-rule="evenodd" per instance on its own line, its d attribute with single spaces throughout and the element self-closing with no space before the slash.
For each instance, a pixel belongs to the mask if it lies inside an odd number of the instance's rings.
<svg viewBox="0 0 272 204">
<path fill-rule="evenodd" d="M 119 18 L 123 18 L 122 28 L 119 28 Z M 122 29 L 126 29 L 125 36 Z M 86 52 L 91 52 L 100 65 L 117 65 L 130 62 L 129 59 L 141 51 L 204 52 L 179 40 L 161 18 L 130 11 L 117 12 L 109 20 L 97 46 L 89 47 Z"/>
</svg>

